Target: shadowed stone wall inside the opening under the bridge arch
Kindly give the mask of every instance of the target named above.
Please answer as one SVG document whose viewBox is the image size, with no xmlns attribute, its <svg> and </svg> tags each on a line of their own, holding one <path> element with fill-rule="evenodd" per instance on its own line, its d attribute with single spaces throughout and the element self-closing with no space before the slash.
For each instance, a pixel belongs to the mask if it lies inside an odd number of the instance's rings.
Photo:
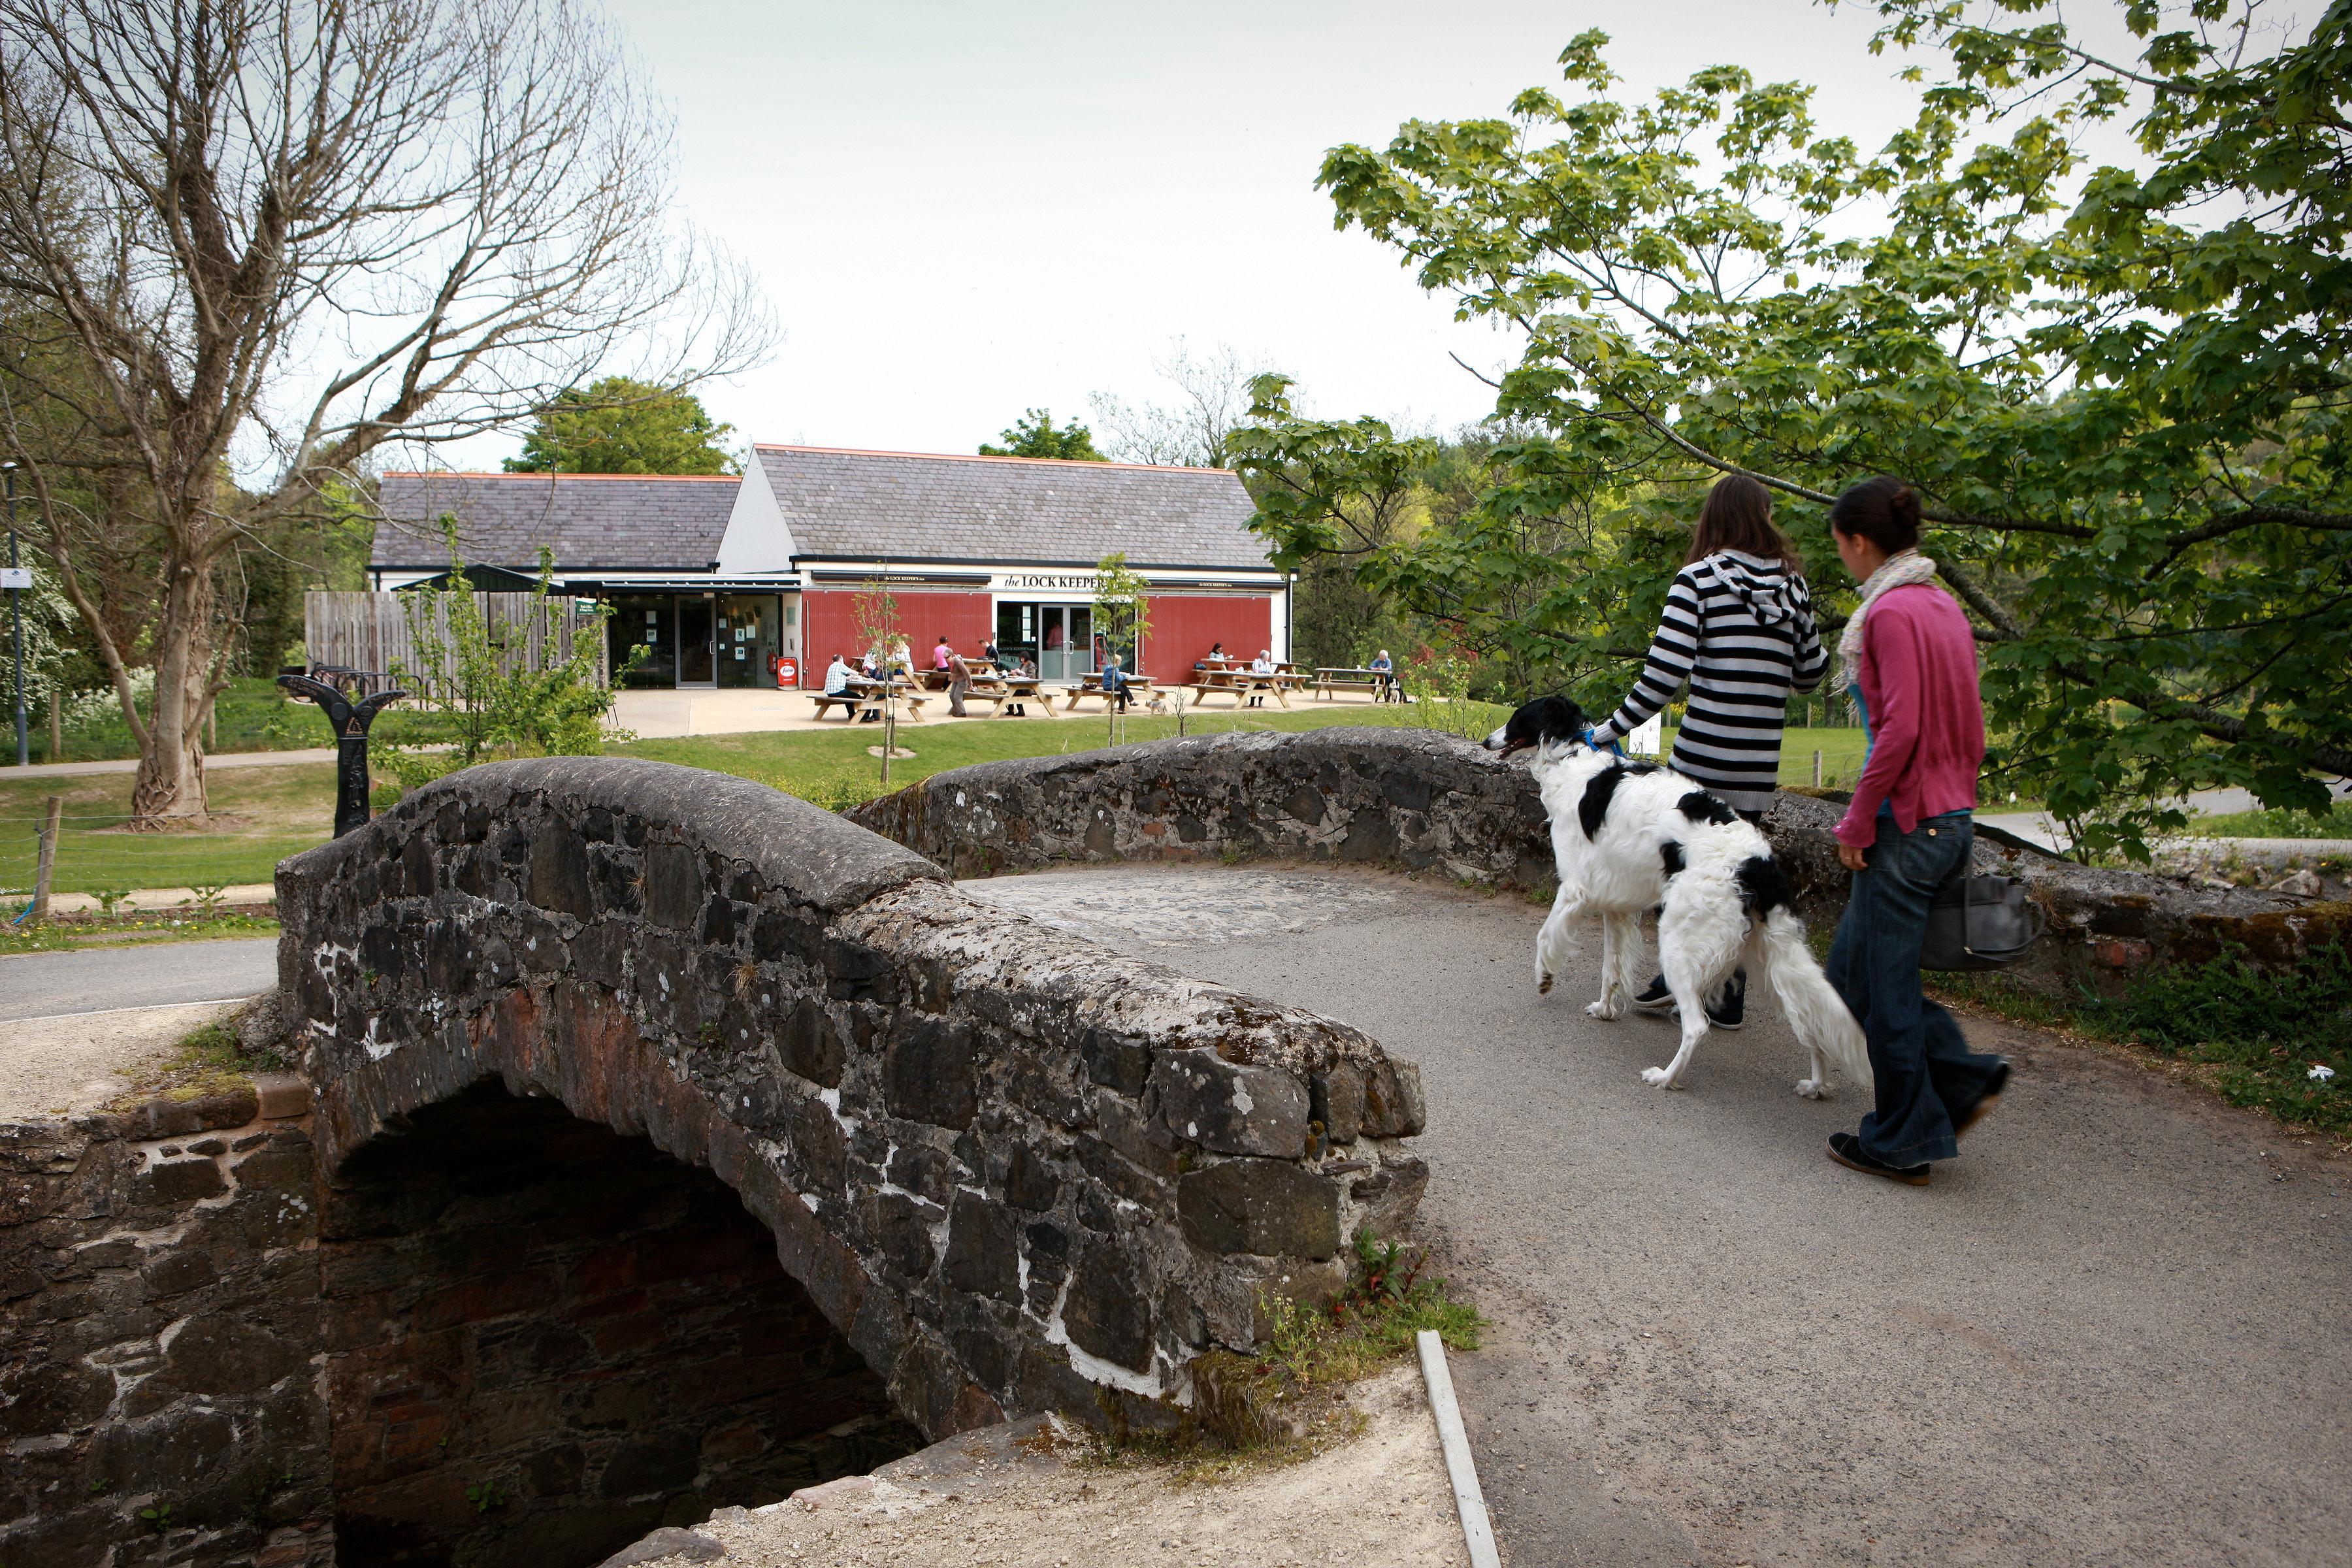
<svg viewBox="0 0 2352 1568">
<path fill-rule="evenodd" d="M 339 1568 L 595 1563 L 922 1446 L 734 1192 L 553 1100 L 416 1112 L 320 1225 Z"/>
</svg>

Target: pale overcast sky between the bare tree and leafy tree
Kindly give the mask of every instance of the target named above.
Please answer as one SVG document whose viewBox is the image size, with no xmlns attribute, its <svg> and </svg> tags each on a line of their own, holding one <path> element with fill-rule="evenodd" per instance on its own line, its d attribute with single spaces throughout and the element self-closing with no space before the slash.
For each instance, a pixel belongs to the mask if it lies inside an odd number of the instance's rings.
<svg viewBox="0 0 2352 1568">
<path fill-rule="evenodd" d="M 783 346 L 706 388 L 739 437 L 971 451 L 1023 407 L 1169 395 L 1178 334 L 1322 414 L 1456 425 L 1510 346 L 1331 228 L 1324 148 L 1496 115 L 1583 28 L 1630 87 L 1736 61 L 1907 118 L 1865 9 L 1806 0 L 612 0 L 675 106 L 687 216 L 753 263 Z M 468 458 L 494 458 L 515 442 Z M 452 454 L 454 456 L 454 454 Z"/>
</svg>

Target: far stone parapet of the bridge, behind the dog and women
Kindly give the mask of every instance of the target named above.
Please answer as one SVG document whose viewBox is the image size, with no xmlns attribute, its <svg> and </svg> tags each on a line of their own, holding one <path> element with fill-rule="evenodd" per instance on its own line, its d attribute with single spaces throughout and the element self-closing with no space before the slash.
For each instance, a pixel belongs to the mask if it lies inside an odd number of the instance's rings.
<svg viewBox="0 0 2352 1568">
<path fill-rule="evenodd" d="M 1783 792 L 1764 830 L 1806 917 L 1835 922 L 1849 875 L 1839 806 Z M 1524 762 L 1416 729 L 1192 736 L 1077 757 L 988 762 L 851 811 L 957 875 L 1089 860 L 1284 856 L 1437 870 L 1498 889 L 1555 884 L 1550 830 Z M 1978 842 L 1978 870 L 2027 882 L 2051 936 L 2009 976 L 2072 994 L 2143 964 L 2201 964 L 2225 945 L 2291 964 L 2352 936 L 2352 905 L 2091 870 Z"/>
</svg>

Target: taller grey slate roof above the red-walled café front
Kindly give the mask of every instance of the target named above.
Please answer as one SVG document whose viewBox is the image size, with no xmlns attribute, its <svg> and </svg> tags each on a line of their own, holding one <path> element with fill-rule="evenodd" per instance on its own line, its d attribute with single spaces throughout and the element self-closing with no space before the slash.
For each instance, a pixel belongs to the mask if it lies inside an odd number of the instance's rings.
<svg viewBox="0 0 2352 1568">
<path fill-rule="evenodd" d="M 1223 468 L 757 447 L 797 557 L 1265 567 Z"/>
</svg>

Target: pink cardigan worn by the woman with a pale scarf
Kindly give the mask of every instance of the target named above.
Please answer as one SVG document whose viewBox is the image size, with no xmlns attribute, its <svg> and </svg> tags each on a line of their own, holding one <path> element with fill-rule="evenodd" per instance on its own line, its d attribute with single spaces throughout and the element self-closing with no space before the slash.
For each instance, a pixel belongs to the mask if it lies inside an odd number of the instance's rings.
<svg viewBox="0 0 2352 1568">
<path fill-rule="evenodd" d="M 1985 766 L 1985 705 L 1976 696 L 1976 637 L 1952 595 L 1933 583 L 1889 588 L 1863 621 L 1858 672 L 1870 715 L 1870 764 L 1837 837 L 1856 849 L 1877 842 L 1879 804 L 1896 827 L 1976 809 Z"/>
</svg>

